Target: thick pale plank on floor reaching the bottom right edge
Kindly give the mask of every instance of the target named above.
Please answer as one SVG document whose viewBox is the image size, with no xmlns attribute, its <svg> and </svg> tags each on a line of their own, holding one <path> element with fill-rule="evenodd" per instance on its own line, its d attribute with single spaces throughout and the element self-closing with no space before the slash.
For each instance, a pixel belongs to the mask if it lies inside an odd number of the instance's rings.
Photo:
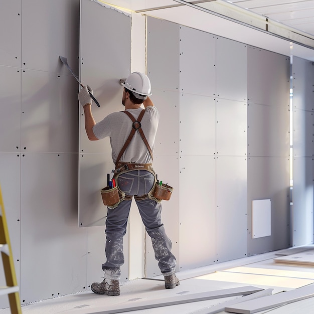
<svg viewBox="0 0 314 314">
<path fill-rule="evenodd" d="M 310 284 L 294 290 L 264 296 L 256 300 L 241 302 L 230 307 L 228 306 L 225 307 L 225 311 L 238 314 L 253 314 L 262 310 L 304 300 L 313 296 L 314 284 Z"/>
</svg>

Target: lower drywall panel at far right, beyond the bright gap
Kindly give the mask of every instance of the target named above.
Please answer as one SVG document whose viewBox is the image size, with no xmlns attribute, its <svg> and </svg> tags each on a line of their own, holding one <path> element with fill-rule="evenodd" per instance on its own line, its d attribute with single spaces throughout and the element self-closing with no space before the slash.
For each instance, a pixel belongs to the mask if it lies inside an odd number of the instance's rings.
<svg viewBox="0 0 314 314">
<path fill-rule="evenodd" d="M 313 243 L 313 173 L 311 157 L 293 158 L 293 246 Z"/>
</svg>

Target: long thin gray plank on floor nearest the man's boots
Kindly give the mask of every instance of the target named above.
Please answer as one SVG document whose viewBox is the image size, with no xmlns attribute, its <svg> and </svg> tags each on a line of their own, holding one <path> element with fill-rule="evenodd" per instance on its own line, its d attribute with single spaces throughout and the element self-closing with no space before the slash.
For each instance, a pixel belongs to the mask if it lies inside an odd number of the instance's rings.
<svg viewBox="0 0 314 314">
<path fill-rule="evenodd" d="M 91 312 L 90 314 L 114 314 L 123 313 L 133 310 L 140 310 L 146 308 L 162 307 L 169 305 L 177 305 L 190 302 L 198 302 L 205 300 L 218 299 L 223 297 L 230 297 L 235 295 L 248 295 L 251 293 L 256 293 L 262 291 L 263 289 L 254 286 L 243 286 L 229 289 L 221 289 L 215 291 L 201 292 L 186 294 L 180 296 L 172 296 L 163 299 L 147 300 L 147 301 L 133 301 L 132 304 L 119 304 L 106 308 L 106 310 L 101 310 L 97 312 Z"/>
</svg>

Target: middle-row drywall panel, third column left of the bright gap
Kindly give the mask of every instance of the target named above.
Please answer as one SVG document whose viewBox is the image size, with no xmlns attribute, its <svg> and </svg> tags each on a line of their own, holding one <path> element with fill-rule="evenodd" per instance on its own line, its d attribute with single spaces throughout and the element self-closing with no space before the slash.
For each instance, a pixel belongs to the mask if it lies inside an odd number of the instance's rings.
<svg viewBox="0 0 314 314">
<path fill-rule="evenodd" d="M 209 96 L 180 93 L 180 154 L 214 155 L 216 104 Z"/>
</svg>

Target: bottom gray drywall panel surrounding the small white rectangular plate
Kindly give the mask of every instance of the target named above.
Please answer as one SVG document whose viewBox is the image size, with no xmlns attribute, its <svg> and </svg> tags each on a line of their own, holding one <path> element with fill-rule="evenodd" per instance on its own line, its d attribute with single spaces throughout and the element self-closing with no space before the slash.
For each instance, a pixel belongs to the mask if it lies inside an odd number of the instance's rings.
<svg viewBox="0 0 314 314">
<path fill-rule="evenodd" d="M 271 200 L 271 236 L 252 239 L 252 201 Z M 247 163 L 248 252 L 290 245 L 289 158 L 249 157 Z"/>
</svg>

